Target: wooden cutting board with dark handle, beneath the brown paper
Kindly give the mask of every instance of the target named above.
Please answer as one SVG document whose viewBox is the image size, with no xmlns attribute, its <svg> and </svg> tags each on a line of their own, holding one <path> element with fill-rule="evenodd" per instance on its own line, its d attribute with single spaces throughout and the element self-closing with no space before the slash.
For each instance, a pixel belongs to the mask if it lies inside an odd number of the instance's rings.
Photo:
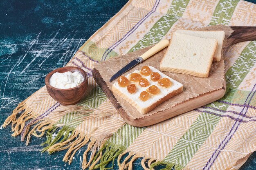
<svg viewBox="0 0 256 170">
<path fill-rule="evenodd" d="M 234 32 L 228 39 L 228 42 L 225 46 L 226 49 L 238 42 L 256 40 L 256 27 L 254 26 L 231 26 L 231 28 L 234 30 Z M 134 119 L 133 117 L 129 116 L 117 102 L 117 99 L 107 87 L 106 82 L 103 81 L 99 71 L 96 68 L 93 69 L 92 75 L 97 84 L 99 84 L 99 86 L 102 88 L 103 92 L 106 94 L 110 102 L 117 109 L 121 117 L 123 117 L 123 119 L 128 124 L 136 127 L 150 126 L 171 117 L 180 115 L 182 113 L 186 113 L 190 110 L 204 106 L 220 99 L 225 95 L 226 92 L 226 82 L 224 80 L 223 87 L 219 90 L 204 93 L 202 95 L 199 95 L 198 97 L 189 99 L 162 112 L 157 112 L 150 116 Z"/>
</svg>

